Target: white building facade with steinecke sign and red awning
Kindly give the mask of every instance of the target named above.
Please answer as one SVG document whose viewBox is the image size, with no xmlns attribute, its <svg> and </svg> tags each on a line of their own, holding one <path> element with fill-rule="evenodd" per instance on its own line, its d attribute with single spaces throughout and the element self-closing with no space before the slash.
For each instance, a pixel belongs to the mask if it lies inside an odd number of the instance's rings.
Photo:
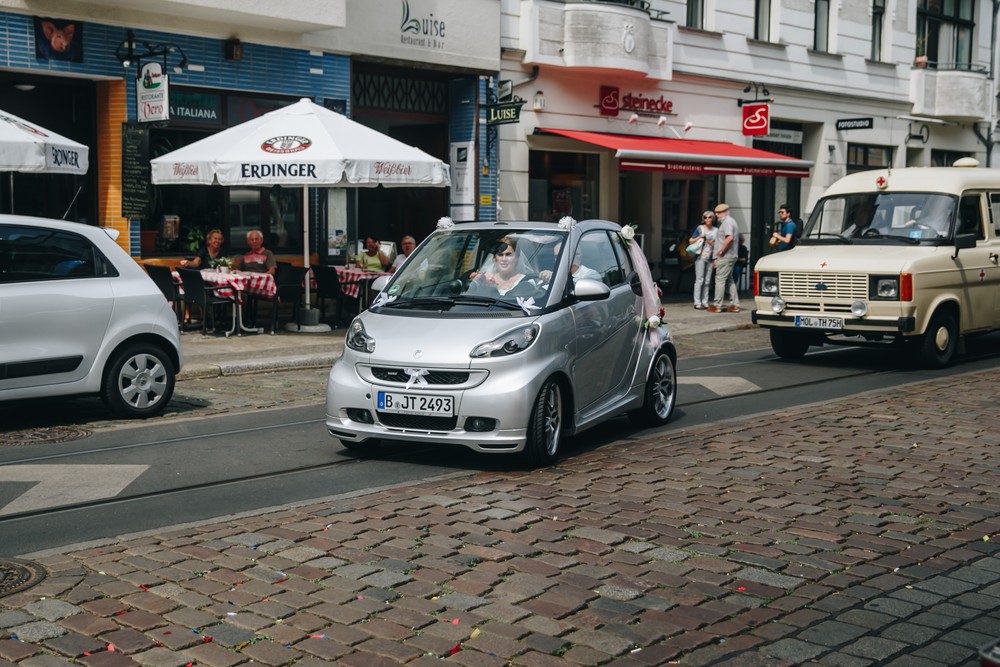
<svg viewBox="0 0 1000 667">
<path fill-rule="evenodd" d="M 846 173 L 989 164 L 997 5 L 503 0 L 500 217 L 638 224 L 656 263 L 725 201 L 752 259 Z"/>
</svg>

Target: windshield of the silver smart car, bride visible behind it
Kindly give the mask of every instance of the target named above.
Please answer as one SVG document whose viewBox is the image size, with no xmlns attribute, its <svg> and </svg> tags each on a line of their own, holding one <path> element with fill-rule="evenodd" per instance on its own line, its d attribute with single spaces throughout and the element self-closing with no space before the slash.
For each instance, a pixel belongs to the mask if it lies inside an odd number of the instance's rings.
<svg viewBox="0 0 1000 667">
<path fill-rule="evenodd" d="M 549 305 L 565 238 L 556 229 L 439 230 L 413 252 L 373 308 L 537 314 Z"/>
</svg>

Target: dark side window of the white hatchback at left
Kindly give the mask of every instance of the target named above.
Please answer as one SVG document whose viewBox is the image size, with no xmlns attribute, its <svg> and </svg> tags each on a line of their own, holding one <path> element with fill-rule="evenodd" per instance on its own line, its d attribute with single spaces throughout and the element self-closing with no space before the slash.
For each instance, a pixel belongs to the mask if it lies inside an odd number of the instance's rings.
<svg viewBox="0 0 1000 667">
<path fill-rule="evenodd" d="M 103 257 L 83 236 L 0 226 L 0 283 L 93 278 L 105 273 Z"/>
</svg>

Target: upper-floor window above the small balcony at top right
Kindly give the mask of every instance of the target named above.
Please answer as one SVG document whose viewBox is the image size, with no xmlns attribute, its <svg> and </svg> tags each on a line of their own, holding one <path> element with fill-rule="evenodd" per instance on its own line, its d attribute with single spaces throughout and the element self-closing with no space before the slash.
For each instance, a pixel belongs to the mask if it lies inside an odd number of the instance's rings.
<svg viewBox="0 0 1000 667">
<path fill-rule="evenodd" d="M 918 0 L 917 56 L 929 67 L 972 69 L 974 0 Z"/>
</svg>

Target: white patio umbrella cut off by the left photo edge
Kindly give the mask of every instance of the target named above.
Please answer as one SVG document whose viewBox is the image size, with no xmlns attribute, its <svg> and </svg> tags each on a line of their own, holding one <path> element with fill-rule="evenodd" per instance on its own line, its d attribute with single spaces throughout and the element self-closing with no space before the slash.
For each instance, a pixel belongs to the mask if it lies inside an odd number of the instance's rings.
<svg viewBox="0 0 1000 667">
<path fill-rule="evenodd" d="M 90 149 L 61 134 L 0 111 L 0 171 L 11 172 L 11 211 L 14 209 L 13 172 L 86 174 Z"/>
</svg>

